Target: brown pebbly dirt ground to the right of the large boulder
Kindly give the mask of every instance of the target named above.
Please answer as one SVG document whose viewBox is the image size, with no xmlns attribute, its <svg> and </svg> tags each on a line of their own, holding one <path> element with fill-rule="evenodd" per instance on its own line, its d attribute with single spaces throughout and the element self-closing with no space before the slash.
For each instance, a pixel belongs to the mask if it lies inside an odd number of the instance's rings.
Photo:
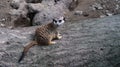
<svg viewBox="0 0 120 67">
<path fill-rule="evenodd" d="M 69 13 L 69 19 L 83 20 L 116 15 L 120 13 L 119 6 L 120 0 L 79 0 L 76 9 Z M 84 15 L 75 15 L 76 11 L 82 11 Z"/>
</svg>

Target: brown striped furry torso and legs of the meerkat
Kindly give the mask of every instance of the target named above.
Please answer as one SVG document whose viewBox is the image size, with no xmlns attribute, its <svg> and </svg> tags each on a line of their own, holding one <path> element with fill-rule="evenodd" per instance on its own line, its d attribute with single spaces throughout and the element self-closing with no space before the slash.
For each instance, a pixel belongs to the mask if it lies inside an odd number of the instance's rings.
<svg viewBox="0 0 120 67">
<path fill-rule="evenodd" d="M 51 45 L 53 39 L 59 39 L 60 35 L 52 23 L 44 25 L 36 30 L 36 41 L 39 45 Z"/>
</svg>

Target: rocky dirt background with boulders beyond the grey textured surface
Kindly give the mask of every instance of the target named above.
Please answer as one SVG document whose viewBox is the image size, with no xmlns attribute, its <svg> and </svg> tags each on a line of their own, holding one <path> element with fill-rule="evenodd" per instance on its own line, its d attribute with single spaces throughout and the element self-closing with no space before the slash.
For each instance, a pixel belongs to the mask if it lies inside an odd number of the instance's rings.
<svg viewBox="0 0 120 67">
<path fill-rule="evenodd" d="M 0 26 L 35 26 L 46 24 L 58 16 L 72 21 L 119 13 L 120 0 L 1 0 Z"/>
</svg>

